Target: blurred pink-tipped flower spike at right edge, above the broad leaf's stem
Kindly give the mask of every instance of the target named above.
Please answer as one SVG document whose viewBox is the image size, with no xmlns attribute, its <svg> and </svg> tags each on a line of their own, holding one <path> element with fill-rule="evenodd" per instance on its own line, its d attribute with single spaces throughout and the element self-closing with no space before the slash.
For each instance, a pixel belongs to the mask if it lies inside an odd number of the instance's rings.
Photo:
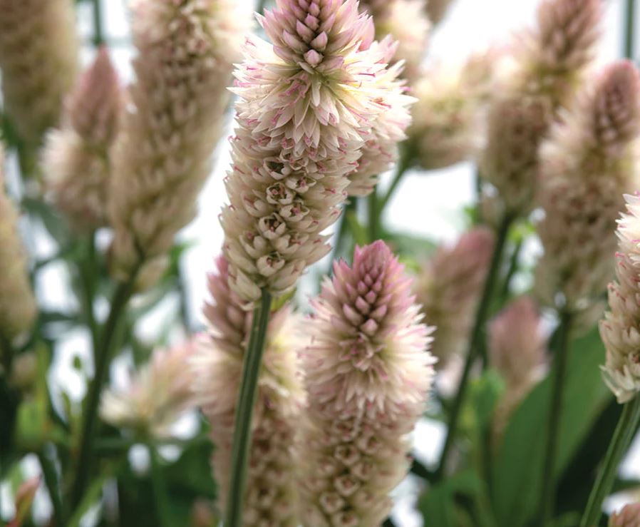
<svg viewBox="0 0 640 527">
<path fill-rule="evenodd" d="M 611 280 L 622 195 L 640 187 L 639 136 L 640 74 L 633 63 L 617 61 L 543 143 L 538 201 L 545 217 L 537 230 L 544 255 L 536 290 L 549 305 L 562 293 L 566 307 L 586 309 Z"/>
</svg>

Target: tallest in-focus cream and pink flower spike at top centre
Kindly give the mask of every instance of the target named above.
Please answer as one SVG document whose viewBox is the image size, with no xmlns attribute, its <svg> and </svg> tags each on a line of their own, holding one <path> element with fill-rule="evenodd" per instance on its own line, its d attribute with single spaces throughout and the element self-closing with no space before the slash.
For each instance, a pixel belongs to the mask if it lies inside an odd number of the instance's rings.
<svg viewBox="0 0 640 527">
<path fill-rule="evenodd" d="M 222 210 L 232 288 L 247 303 L 262 287 L 294 286 L 329 251 L 326 227 L 378 116 L 391 113 L 389 44 L 355 0 L 278 0 L 260 19 L 235 75 L 237 128 Z M 391 97 L 401 95 L 392 93 Z"/>
</svg>

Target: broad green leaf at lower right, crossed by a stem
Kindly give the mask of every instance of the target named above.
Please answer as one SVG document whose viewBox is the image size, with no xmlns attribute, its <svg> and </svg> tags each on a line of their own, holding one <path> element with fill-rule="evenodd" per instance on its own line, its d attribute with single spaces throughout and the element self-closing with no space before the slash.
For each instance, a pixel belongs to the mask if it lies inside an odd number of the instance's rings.
<svg viewBox="0 0 640 527">
<path fill-rule="evenodd" d="M 567 467 L 594 421 L 611 400 L 600 377 L 604 347 L 597 329 L 572 342 L 559 432 L 557 474 Z M 494 504 L 499 525 L 525 526 L 540 498 L 549 378 L 520 404 L 507 425 L 494 464 Z"/>
</svg>

